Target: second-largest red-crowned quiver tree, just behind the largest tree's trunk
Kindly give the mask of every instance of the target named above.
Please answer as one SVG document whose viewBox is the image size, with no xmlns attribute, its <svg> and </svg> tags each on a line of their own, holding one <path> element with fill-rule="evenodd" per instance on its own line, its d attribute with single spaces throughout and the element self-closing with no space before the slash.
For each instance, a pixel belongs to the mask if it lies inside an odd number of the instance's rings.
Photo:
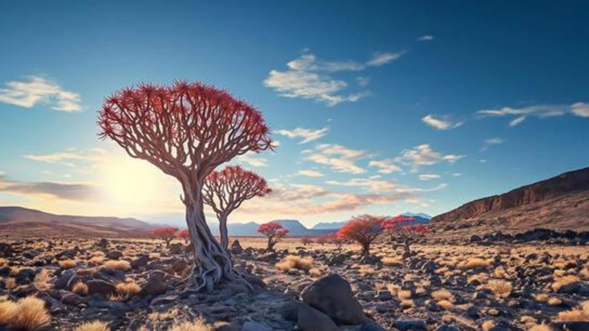
<svg viewBox="0 0 589 331">
<path fill-rule="evenodd" d="M 225 250 L 229 247 L 227 217 L 231 211 L 239 208 L 243 201 L 263 197 L 271 191 L 264 178 L 240 166 L 229 166 L 207 176 L 204 180 L 203 200 L 217 214 L 221 246 Z"/>
</svg>

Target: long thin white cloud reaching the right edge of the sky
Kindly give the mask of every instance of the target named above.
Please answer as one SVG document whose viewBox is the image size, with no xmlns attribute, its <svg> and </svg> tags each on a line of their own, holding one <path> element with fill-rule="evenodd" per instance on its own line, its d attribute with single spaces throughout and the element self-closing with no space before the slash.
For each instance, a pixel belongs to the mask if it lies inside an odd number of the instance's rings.
<svg viewBox="0 0 589 331">
<path fill-rule="evenodd" d="M 533 105 L 524 108 L 503 107 L 501 109 L 479 110 L 477 114 L 481 114 L 483 117 L 515 117 L 509 121 L 509 126 L 515 127 L 529 116 L 548 118 L 572 114 L 579 117 L 589 117 L 589 105 L 584 102 L 576 102 L 572 105 Z"/>
</svg>

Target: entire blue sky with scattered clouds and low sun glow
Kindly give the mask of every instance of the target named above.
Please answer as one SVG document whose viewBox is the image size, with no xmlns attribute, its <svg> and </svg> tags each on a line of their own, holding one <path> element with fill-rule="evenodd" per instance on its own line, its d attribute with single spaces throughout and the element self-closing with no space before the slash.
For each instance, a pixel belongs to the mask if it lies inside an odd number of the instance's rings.
<svg viewBox="0 0 589 331">
<path fill-rule="evenodd" d="M 230 221 L 435 215 L 589 164 L 581 2 L 2 7 L 0 205 L 181 224 L 180 187 L 97 138 L 104 98 L 142 81 L 263 111 L 280 146 L 236 162 L 275 194 Z"/>
</svg>

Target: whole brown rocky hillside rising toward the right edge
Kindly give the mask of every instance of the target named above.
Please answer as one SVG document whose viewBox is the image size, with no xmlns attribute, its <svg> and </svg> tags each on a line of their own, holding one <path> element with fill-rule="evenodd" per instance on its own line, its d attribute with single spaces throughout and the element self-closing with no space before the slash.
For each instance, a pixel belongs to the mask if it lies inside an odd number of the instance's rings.
<svg viewBox="0 0 589 331">
<path fill-rule="evenodd" d="M 471 201 L 434 217 L 434 229 L 589 230 L 589 167 Z"/>
</svg>

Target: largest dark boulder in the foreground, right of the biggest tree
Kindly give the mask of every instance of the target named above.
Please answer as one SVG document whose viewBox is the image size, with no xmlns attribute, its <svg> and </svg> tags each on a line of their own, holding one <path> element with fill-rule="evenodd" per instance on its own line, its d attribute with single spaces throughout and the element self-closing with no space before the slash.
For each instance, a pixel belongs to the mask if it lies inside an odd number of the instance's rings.
<svg viewBox="0 0 589 331">
<path fill-rule="evenodd" d="M 361 324 L 366 319 L 362 306 L 352 294 L 352 287 L 338 274 L 330 274 L 310 284 L 300 297 L 338 324 Z"/>
</svg>

